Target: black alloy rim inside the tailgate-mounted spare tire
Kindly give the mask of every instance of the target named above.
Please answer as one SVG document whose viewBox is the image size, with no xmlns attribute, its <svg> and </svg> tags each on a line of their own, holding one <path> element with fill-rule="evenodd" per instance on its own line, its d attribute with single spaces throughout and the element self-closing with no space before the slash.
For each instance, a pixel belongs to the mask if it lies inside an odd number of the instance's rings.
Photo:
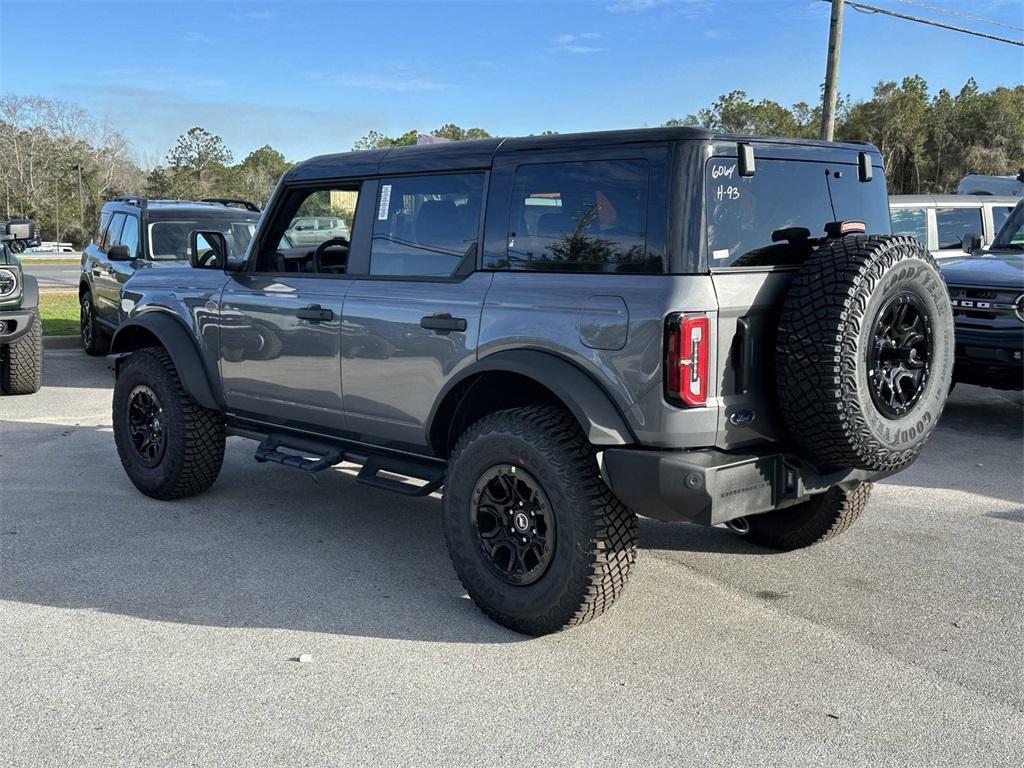
<svg viewBox="0 0 1024 768">
<path fill-rule="evenodd" d="M 909 291 L 891 297 L 871 330 L 867 377 L 879 412 L 899 419 L 918 402 L 929 375 L 932 333 L 928 311 Z"/>
</svg>

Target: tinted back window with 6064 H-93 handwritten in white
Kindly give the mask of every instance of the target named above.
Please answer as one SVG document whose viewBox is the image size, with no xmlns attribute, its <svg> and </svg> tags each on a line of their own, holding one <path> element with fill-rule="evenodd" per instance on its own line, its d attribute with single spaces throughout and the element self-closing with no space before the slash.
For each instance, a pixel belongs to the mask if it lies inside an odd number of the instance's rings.
<svg viewBox="0 0 1024 768">
<path fill-rule="evenodd" d="M 824 236 L 829 221 L 857 219 L 869 232 L 888 233 L 889 202 L 879 169 L 871 181 L 855 165 L 758 159 L 753 176 L 740 176 L 734 158 L 713 158 L 705 171 L 708 261 L 715 267 L 773 266 L 798 257 L 772 232 L 804 227 Z"/>
</svg>

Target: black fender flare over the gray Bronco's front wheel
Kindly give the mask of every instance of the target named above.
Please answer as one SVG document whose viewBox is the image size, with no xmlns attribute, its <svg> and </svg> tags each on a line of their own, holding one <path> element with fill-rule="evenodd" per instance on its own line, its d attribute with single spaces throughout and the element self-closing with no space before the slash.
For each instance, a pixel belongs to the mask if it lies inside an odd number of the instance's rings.
<svg viewBox="0 0 1024 768">
<path fill-rule="evenodd" d="M 111 342 L 111 356 L 117 359 L 125 352 L 145 346 L 135 343 L 139 330 L 157 337 L 171 355 L 181 386 L 196 402 L 212 411 L 224 410 L 219 387 L 211 382 L 195 338 L 184 323 L 166 312 L 144 312 L 122 323 Z"/>
</svg>

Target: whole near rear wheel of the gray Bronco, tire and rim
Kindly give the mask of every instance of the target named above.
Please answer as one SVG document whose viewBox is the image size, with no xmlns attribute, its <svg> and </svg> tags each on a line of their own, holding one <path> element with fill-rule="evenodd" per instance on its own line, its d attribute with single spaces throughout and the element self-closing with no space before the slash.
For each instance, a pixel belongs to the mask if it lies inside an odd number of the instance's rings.
<svg viewBox="0 0 1024 768">
<path fill-rule="evenodd" d="M 575 419 L 555 408 L 470 426 L 449 461 L 442 516 L 466 592 L 527 635 L 602 613 L 636 560 L 636 515 L 601 479 Z"/>
</svg>

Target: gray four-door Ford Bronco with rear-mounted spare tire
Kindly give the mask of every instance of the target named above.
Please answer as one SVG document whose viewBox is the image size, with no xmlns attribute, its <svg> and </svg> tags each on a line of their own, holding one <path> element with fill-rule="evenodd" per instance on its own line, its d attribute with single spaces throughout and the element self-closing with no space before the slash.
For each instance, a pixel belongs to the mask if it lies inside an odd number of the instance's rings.
<svg viewBox="0 0 1024 768">
<path fill-rule="evenodd" d="M 350 237 L 295 247 L 313 215 Z M 612 603 L 638 514 L 785 549 L 844 531 L 949 389 L 945 286 L 890 234 L 866 144 L 664 128 L 331 155 L 282 178 L 245 253 L 191 238 L 197 269 L 125 285 L 132 482 L 199 494 L 241 435 L 258 462 L 443 486 L 466 591 L 523 633 Z"/>
</svg>

